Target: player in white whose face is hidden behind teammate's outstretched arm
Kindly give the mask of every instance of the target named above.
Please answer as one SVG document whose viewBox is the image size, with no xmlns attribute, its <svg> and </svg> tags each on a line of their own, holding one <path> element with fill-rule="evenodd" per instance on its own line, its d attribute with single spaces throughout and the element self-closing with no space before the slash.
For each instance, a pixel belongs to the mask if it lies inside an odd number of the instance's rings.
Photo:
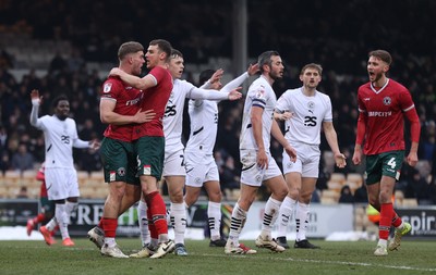
<svg viewBox="0 0 436 275">
<path fill-rule="evenodd" d="M 208 88 L 229 91 L 239 87 L 258 71 L 258 65 L 250 65 L 249 70 L 222 87 L 221 82 L 210 84 Z M 217 71 L 219 72 L 219 71 Z M 213 70 L 199 74 L 199 83 L 207 84 L 214 77 Z M 210 82 L 209 82 L 210 83 Z M 222 87 L 222 88 L 221 88 Z M 186 187 L 184 201 L 186 207 L 193 205 L 199 196 L 202 187 L 208 195 L 208 225 L 210 229 L 210 247 L 223 247 L 226 240 L 220 236 L 221 226 L 221 188 L 219 172 L 214 159 L 214 146 L 218 130 L 218 101 L 190 100 L 189 114 L 191 118 L 190 139 L 184 150 L 186 168 Z"/>
</svg>

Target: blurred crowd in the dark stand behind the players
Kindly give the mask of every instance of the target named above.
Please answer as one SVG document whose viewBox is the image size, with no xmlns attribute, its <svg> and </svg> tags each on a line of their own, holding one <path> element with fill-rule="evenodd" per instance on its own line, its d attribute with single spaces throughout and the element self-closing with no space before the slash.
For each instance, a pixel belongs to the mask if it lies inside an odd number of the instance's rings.
<svg viewBox="0 0 436 275">
<path fill-rule="evenodd" d="M 112 62 L 116 66 L 117 49 L 125 40 L 147 42 L 156 37 L 166 38 L 185 54 L 187 70 L 189 63 L 202 63 L 209 57 L 231 59 L 232 1 L 170 2 L 171 9 L 162 9 L 154 1 L 147 1 L 145 5 L 138 0 L 2 1 L 0 32 L 20 25 L 26 26 L 26 32 L 35 39 L 68 39 L 75 55 L 65 59 L 58 54 L 51 60 L 46 76 L 38 77 L 29 68 L 28 74 L 17 80 L 10 73 L 14 57 L 3 48 L 4 43 L 13 41 L 0 41 L 1 171 L 32 168 L 29 163 L 44 161 L 43 134 L 28 123 L 32 89 L 39 89 L 44 97 L 43 113 L 51 113 L 50 101 L 55 95 L 65 93 L 70 98 L 71 114 L 77 122 L 78 136 L 83 139 L 102 138 L 106 125 L 99 121 L 98 104 L 104 79 L 99 72 L 88 70 L 86 63 Z M 286 61 L 286 76 L 275 86 L 278 95 L 300 86 L 298 74 L 301 65 L 307 62 L 323 65 L 325 73 L 318 89 L 331 98 L 339 145 L 349 159 L 344 173 L 362 172 L 350 160 L 359 115 L 356 90 L 367 82 L 366 54 L 375 48 L 392 53 L 393 64 L 388 76 L 400 80 L 412 93 L 422 123 L 419 158 L 426 161 L 420 170 L 404 165 L 398 188 L 405 197 L 436 204 L 436 75 L 433 72 L 436 66 L 436 35 L 431 27 L 436 14 L 429 14 L 436 11 L 436 3 L 377 1 L 379 9 L 375 10 L 371 4 L 375 1 L 370 0 L 334 3 L 288 1 L 282 7 L 277 0 L 247 2 L 249 55 L 256 57 L 263 50 L 275 49 Z M 393 4 L 396 13 L 384 12 L 390 11 Z M 33 16 L 28 10 L 38 16 Z M 121 10 L 124 12 L 120 13 Z M 265 20 L 271 14 L 274 20 Z M 147 20 L 154 16 L 174 20 Z M 110 17 L 117 21 L 105 20 Z M 377 18 L 377 23 L 372 18 Z M 278 32 L 282 28 L 287 29 L 286 33 Z M 156 29 L 156 33 L 149 29 Z M 191 80 L 196 83 L 197 79 Z M 239 186 L 242 105 L 243 101 L 220 103 L 216 160 L 221 168 L 222 184 L 228 188 Z M 322 150 L 327 148 L 323 140 Z M 281 164 L 281 147 L 274 141 L 271 150 Z M 101 168 L 98 153 L 75 153 L 77 168 Z M 325 183 L 332 172 L 327 167 L 323 170 L 319 189 L 326 188 Z"/>
</svg>

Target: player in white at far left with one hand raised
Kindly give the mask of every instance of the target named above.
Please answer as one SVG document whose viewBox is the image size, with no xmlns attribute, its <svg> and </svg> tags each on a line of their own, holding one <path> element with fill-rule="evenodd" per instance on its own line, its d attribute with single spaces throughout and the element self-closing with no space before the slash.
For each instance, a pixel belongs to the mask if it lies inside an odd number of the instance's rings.
<svg viewBox="0 0 436 275">
<path fill-rule="evenodd" d="M 70 103 L 66 97 L 59 96 L 53 100 L 55 114 L 38 118 L 41 98 L 38 90 L 32 90 L 31 125 L 41 129 L 46 146 L 46 187 L 48 199 L 56 203 L 55 217 L 46 226 L 39 228 L 47 245 L 51 242 L 51 232 L 57 225 L 62 235 L 63 246 L 74 246 L 68 224 L 70 215 L 77 205 L 78 184 L 74 168 L 73 147 L 93 148 L 97 150 L 99 142 L 84 141 L 77 136 L 75 121 L 69 118 Z"/>
</svg>

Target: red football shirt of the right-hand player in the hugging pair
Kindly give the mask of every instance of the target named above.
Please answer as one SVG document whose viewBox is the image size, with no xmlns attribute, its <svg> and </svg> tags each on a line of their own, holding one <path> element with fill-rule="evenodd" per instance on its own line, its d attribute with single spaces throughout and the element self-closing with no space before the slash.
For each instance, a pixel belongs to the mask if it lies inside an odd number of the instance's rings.
<svg viewBox="0 0 436 275">
<path fill-rule="evenodd" d="M 156 115 L 153 121 L 133 127 L 132 140 L 144 136 L 164 137 L 162 118 L 172 91 L 172 77 L 169 71 L 161 66 L 154 67 L 148 74 L 156 78 L 157 85 L 144 91 L 141 108 L 143 111 L 154 110 Z"/>
</svg>

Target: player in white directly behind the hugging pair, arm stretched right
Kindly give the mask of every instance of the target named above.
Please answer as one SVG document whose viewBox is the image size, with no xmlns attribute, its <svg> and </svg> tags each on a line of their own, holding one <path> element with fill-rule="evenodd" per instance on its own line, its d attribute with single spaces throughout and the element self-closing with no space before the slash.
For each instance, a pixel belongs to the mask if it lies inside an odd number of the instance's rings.
<svg viewBox="0 0 436 275">
<path fill-rule="evenodd" d="M 169 63 L 169 71 L 174 80 L 170 99 L 164 116 L 165 133 L 165 160 L 162 176 L 167 182 L 168 192 L 171 201 L 170 218 L 174 227 L 174 253 L 187 255 L 184 246 L 184 233 L 186 230 L 186 207 L 183 200 L 183 187 L 185 184 L 184 146 L 182 143 L 183 108 L 185 99 L 208 99 L 208 100 L 238 100 L 242 97 L 235 88 L 230 92 L 202 89 L 193 84 L 181 80 L 184 70 L 184 60 L 180 51 L 173 49 Z M 149 238 L 146 229 L 146 205 L 140 201 L 140 227 L 143 243 Z M 154 241 L 153 239 L 150 240 Z"/>
</svg>

